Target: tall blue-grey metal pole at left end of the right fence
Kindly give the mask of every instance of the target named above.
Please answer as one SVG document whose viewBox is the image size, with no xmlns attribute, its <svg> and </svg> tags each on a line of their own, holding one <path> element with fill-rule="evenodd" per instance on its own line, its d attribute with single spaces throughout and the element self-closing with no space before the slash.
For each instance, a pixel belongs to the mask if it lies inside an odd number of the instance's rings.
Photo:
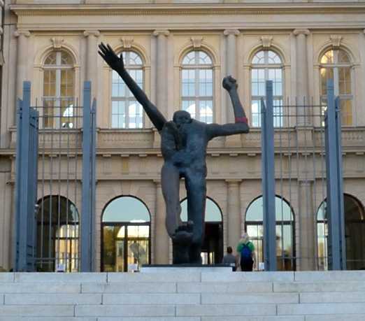
<svg viewBox="0 0 365 321">
<path fill-rule="evenodd" d="M 264 211 L 265 271 L 276 271 L 275 164 L 273 82 L 266 81 L 266 106 L 262 101 L 262 198 Z"/>
</svg>

